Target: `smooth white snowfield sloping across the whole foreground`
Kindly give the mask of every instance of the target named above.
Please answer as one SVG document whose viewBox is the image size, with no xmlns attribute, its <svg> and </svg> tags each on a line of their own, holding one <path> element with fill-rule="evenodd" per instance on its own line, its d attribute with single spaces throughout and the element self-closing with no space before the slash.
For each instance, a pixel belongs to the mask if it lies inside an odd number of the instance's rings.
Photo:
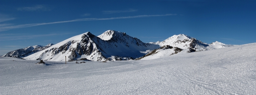
<svg viewBox="0 0 256 95">
<path fill-rule="evenodd" d="M 0 57 L 0 94 L 256 94 L 256 43 L 153 60 L 37 62 Z"/>
</svg>

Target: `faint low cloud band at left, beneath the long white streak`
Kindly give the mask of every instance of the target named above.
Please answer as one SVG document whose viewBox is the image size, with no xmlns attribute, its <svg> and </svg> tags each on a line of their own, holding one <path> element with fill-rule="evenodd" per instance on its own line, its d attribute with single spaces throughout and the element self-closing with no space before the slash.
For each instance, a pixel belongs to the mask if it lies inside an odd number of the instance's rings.
<svg viewBox="0 0 256 95">
<path fill-rule="evenodd" d="M 24 34 L 0 34 L 0 41 L 8 41 L 8 40 L 20 40 L 20 39 L 31 39 L 36 37 L 48 37 L 55 35 L 67 35 L 70 33 L 62 33 L 62 34 L 41 34 L 41 35 L 24 35 Z"/>
</svg>

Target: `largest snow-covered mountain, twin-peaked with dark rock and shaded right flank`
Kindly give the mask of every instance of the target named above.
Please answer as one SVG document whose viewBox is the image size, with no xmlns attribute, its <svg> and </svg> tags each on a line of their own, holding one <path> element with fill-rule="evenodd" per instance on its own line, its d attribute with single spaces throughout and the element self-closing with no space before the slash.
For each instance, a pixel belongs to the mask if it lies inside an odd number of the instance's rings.
<svg viewBox="0 0 256 95">
<path fill-rule="evenodd" d="M 86 58 L 92 61 L 113 60 L 116 58 L 134 59 L 145 55 L 143 51 L 154 50 L 159 45 L 143 43 L 119 31 L 106 31 L 98 37 L 86 32 L 66 39 L 51 48 L 39 51 L 25 59 L 68 61 Z"/>
</svg>

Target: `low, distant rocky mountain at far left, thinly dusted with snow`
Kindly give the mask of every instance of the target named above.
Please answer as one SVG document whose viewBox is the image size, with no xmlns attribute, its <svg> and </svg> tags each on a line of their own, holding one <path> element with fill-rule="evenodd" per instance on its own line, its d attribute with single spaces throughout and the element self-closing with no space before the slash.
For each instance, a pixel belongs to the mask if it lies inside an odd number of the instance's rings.
<svg viewBox="0 0 256 95">
<path fill-rule="evenodd" d="M 34 45 L 34 46 L 29 46 L 23 49 L 18 49 L 14 50 L 11 52 L 6 53 L 2 57 L 18 57 L 18 58 L 23 58 L 27 57 L 35 52 L 42 51 L 48 47 L 51 47 L 53 44 L 48 44 L 46 46 L 41 46 L 41 45 Z"/>
</svg>

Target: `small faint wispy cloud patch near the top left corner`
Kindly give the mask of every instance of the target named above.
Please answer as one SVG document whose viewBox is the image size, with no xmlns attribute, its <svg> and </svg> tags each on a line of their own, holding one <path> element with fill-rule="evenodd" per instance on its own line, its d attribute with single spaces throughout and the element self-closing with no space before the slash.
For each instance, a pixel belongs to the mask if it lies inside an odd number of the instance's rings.
<svg viewBox="0 0 256 95">
<path fill-rule="evenodd" d="M 50 9 L 48 7 L 43 6 L 43 5 L 35 5 L 35 6 L 32 6 L 32 7 L 20 7 L 17 10 L 19 10 L 19 11 L 35 11 L 35 10 L 48 11 Z"/>
</svg>

